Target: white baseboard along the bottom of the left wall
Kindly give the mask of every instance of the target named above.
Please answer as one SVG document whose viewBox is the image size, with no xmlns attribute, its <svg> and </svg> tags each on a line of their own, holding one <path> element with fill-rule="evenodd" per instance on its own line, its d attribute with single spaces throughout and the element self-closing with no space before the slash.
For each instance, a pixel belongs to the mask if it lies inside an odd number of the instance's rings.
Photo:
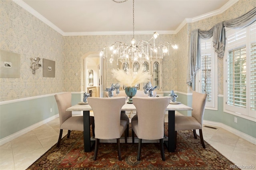
<svg viewBox="0 0 256 170">
<path fill-rule="evenodd" d="M 59 114 L 56 114 L 56 115 L 54 115 L 54 116 L 52 116 L 52 117 L 49 117 L 48 119 L 45 119 L 45 120 L 43 120 L 43 121 L 41 121 L 41 122 L 38 122 L 38 123 L 36 123 L 36 124 L 34 124 L 34 125 L 31 125 L 30 127 L 24 128 L 24 129 L 22 129 L 22 130 L 20 130 L 20 131 L 18 131 L 18 132 L 16 132 L 16 133 L 14 133 L 14 134 L 11 134 L 10 136 L 6 136 L 5 138 L 2 138 L 2 139 L 0 140 L 0 146 L 1 146 L 2 144 L 5 144 L 5 143 L 7 143 L 7 142 L 10 142 L 11 140 L 13 140 L 13 139 L 15 139 L 15 138 L 21 136 L 22 134 L 25 134 L 25 133 L 27 133 L 27 132 L 29 132 L 29 131 L 31 131 L 31 130 L 37 128 L 37 127 L 40 127 L 40 126 L 44 125 L 45 123 L 48 123 L 48 122 L 50 122 L 50 121 L 56 119 L 57 117 L 59 117 Z"/>
</svg>

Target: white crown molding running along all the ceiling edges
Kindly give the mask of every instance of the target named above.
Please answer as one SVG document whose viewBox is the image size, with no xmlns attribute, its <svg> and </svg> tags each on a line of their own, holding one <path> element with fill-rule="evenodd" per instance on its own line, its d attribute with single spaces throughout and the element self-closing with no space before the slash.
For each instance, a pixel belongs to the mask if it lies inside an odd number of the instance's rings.
<svg viewBox="0 0 256 170">
<path fill-rule="evenodd" d="M 30 12 L 32 15 L 34 15 L 36 18 L 50 26 L 52 29 L 54 29 L 56 32 L 60 33 L 62 36 L 102 36 L 102 35 L 132 35 L 133 33 L 131 31 L 108 31 L 108 32 L 63 32 L 60 28 L 58 28 L 56 25 L 54 25 L 52 22 L 47 20 L 44 16 L 36 12 L 33 8 L 31 8 L 28 4 L 26 4 L 23 0 L 12 0 L 16 4 L 18 4 L 20 7 L 24 8 L 24 10 Z M 206 14 L 194 17 L 194 18 L 185 18 L 182 23 L 178 26 L 178 28 L 174 31 L 157 31 L 158 34 L 177 34 L 187 23 L 196 22 L 199 20 L 203 20 L 218 14 L 221 14 L 222 12 L 226 11 L 228 8 L 230 8 L 232 5 L 234 5 L 239 0 L 229 0 L 224 6 L 222 6 L 220 9 L 208 12 Z M 152 34 L 156 31 L 136 31 L 134 34 L 136 35 L 146 35 L 146 34 Z"/>
</svg>

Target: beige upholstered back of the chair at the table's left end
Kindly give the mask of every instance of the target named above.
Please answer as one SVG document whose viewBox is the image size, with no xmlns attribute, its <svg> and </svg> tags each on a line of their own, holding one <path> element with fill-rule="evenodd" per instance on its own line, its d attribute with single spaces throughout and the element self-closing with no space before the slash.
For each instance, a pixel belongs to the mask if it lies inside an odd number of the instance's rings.
<svg viewBox="0 0 256 170">
<path fill-rule="evenodd" d="M 66 121 L 69 117 L 72 117 L 72 111 L 66 111 L 69 107 L 71 107 L 71 92 L 56 94 L 54 95 L 60 116 L 60 126 L 64 121 Z"/>
</svg>

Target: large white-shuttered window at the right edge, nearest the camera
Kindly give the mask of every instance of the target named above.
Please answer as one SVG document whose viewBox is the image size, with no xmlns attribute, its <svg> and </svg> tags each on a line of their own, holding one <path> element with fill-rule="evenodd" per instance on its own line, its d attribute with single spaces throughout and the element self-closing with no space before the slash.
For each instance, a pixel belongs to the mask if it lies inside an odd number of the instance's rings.
<svg viewBox="0 0 256 170">
<path fill-rule="evenodd" d="M 224 111 L 255 121 L 256 22 L 226 31 Z"/>
</svg>

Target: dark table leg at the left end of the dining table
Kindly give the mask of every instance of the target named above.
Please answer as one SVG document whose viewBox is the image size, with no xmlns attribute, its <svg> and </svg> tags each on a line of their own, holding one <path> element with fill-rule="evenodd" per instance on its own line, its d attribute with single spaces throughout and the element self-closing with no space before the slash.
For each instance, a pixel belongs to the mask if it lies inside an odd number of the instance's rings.
<svg viewBox="0 0 256 170">
<path fill-rule="evenodd" d="M 95 141 L 91 141 L 90 111 L 83 111 L 84 116 L 84 152 L 90 152 Z"/>
</svg>

